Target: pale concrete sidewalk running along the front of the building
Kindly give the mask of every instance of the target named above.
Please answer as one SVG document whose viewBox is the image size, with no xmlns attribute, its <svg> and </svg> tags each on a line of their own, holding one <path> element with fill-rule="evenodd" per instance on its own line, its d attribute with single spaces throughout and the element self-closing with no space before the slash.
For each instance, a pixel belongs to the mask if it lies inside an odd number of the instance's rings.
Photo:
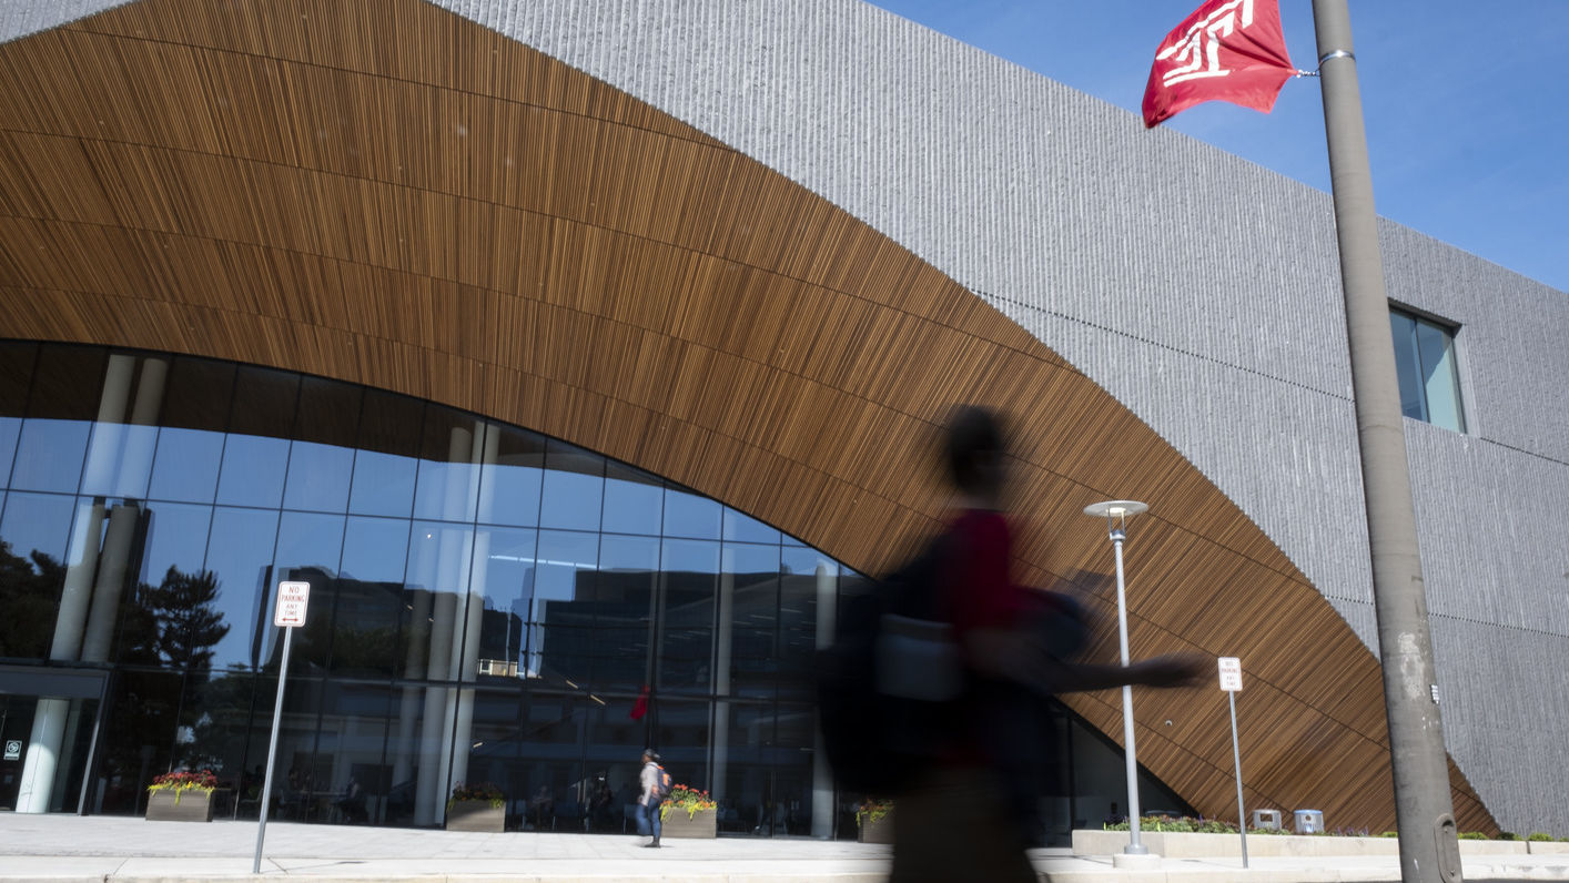
<svg viewBox="0 0 1569 883">
<path fill-rule="evenodd" d="M 406 828 L 267 825 L 262 878 L 300 883 L 879 883 L 890 850 L 855 842 L 720 838 L 643 841 L 612 834 L 471 834 Z M 254 822 L 146 822 L 126 817 L 0 812 L 0 881 L 151 883 L 251 878 Z M 1036 850 L 1053 883 L 1382 883 L 1400 880 L 1393 856 L 1164 858 L 1147 870 L 1114 869 L 1111 856 Z M 1465 878 L 1564 880 L 1569 856 L 1465 856 Z"/>
</svg>

